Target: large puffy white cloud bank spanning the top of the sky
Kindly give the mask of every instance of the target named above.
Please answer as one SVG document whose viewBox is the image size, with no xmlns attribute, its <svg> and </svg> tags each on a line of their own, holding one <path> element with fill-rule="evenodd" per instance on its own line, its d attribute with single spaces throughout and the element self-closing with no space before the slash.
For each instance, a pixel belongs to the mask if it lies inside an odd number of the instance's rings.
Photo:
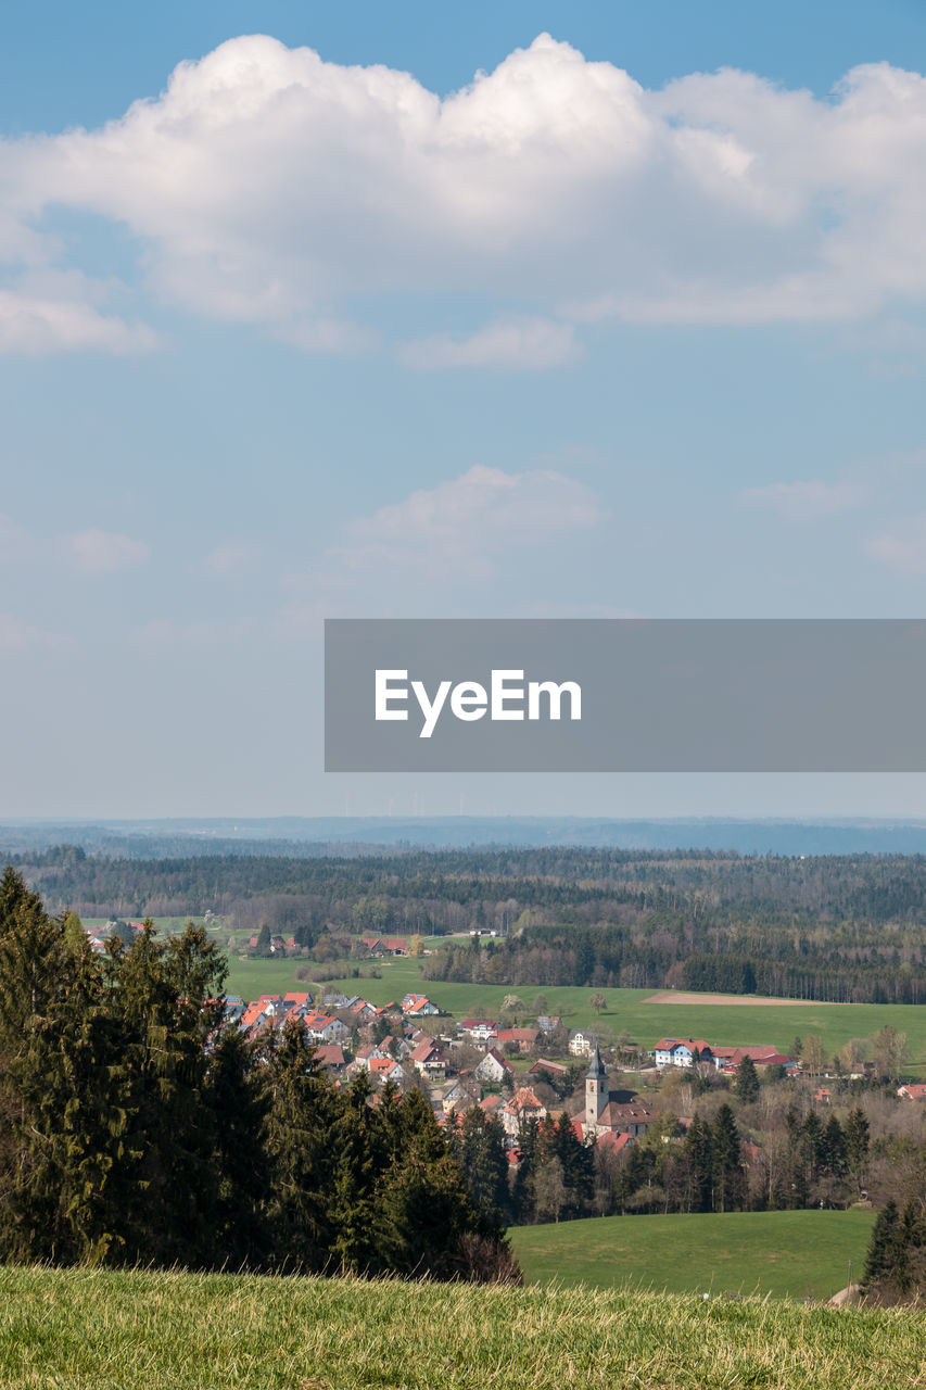
<svg viewBox="0 0 926 1390">
<path fill-rule="evenodd" d="M 925 165 L 926 81 L 886 63 L 823 100 L 730 70 L 651 92 L 542 35 L 441 99 L 256 35 L 100 129 L 1 146 L 0 256 L 57 264 L 40 218 L 89 210 L 139 239 L 157 295 L 313 352 L 363 350 L 364 303 L 431 292 L 528 318 L 840 321 L 926 297 Z M 33 314 L 26 343 L 129 331 Z M 434 346 L 507 364 L 492 334 Z"/>
</svg>

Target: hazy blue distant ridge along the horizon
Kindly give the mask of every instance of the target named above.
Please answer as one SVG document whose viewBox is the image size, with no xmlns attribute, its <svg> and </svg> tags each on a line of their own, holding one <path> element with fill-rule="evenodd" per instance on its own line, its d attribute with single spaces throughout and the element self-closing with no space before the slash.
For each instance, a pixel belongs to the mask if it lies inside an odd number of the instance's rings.
<svg viewBox="0 0 926 1390">
<path fill-rule="evenodd" d="M 926 853 L 926 823 L 913 820 L 609 820 L 581 816 L 278 816 L 97 821 L 0 821 L 0 852 L 79 845 L 88 853 L 378 853 L 387 848 L 455 849 L 581 845 L 601 849 L 708 849 L 742 855 Z"/>
</svg>

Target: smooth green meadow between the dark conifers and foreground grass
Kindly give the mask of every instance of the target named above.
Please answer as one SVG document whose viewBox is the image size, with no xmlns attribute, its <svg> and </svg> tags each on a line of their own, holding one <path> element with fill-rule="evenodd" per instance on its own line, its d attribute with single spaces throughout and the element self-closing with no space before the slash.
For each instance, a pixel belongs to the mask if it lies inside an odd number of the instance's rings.
<svg viewBox="0 0 926 1390">
<path fill-rule="evenodd" d="M 605 1216 L 510 1234 L 531 1283 L 829 1298 L 850 1282 L 850 1261 L 861 1275 L 873 1220 L 870 1211 Z"/>
</svg>

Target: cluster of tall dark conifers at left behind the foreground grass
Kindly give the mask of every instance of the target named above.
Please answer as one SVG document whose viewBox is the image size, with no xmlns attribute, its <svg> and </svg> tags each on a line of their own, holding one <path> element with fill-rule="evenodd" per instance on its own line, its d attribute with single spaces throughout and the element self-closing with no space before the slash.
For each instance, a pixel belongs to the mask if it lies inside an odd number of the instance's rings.
<svg viewBox="0 0 926 1390">
<path fill-rule="evenodd" d="M 516 1277 L 419 1091 L 222 1023 L 225 963 L 150 923 L 96 955 L 0 881 L 0 1259 Z"/>
</svg>

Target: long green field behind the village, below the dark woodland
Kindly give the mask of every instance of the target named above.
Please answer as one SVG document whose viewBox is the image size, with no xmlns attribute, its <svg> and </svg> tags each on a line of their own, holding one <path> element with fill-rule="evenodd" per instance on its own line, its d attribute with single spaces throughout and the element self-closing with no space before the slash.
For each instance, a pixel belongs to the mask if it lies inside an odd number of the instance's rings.
<svg viewBox="0 0 926 1390">
<path fill-rule="evenodd" d="M 299 960 L 231 960 L 228 990 L 246 998 L 271 991 L 299 988 L 296 967 Z M 370 965 L 364 962 L 364 973 Z M 399 958 L 377 963 L 381 980 L 345 979 L 332 981 L 334 988 L 362 994 L 373 1004 L 400 999 L 409 990 L 424 990 L 435 1004 L 455 1017 L 498 1017 L 502 999 L 512 992 L 502 984 L 441 984 L 421 983 L 419 960 Z M 304 986 L 303 986 L 304 988 Z M 627 1033 L 635 1042 L 652 1047 L 663 1034 L 702 1037 L 720 1047 L 741 1042 L 772 1042 L 788 1049 L 795 1034 L 806 1037 L 818 1033 L 827 1052 L 833 1052 L 850 1038 L 870 1037 L 890 1023 L 907 1033 L 915 1061 L 926 1049 L 926 1006 L 912 1004 L 819 1004 L 767 1005 L 738 1004 L 647 1004 L 655 990 L 605 990 L 606 1009 L 598 1017 L 588 999 L 591 990 L 549 986 L 542 991 L 524 987 L 516 991 L 527 1008 L 538 992 L 546 998 L 549 1012 L 562 1015 L 570 1029 L 599 1026 L 617 1037 Z"/>
</svg>

